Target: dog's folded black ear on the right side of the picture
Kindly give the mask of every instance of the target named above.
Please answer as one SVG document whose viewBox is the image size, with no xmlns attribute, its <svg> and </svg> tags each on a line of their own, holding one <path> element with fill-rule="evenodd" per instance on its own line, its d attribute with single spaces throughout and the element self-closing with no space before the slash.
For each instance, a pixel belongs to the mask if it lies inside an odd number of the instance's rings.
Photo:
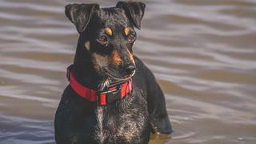
<svg viewBox="0 0 256 144">
<path fill-rule="evenodd" d="M 118 8 L 126 11 L 127 17 L 133 22 L 134 26 L 141 29 L 141 22 L 144 15 L 146 5 L 142 2 L 118 2 Z"/>
</svg>

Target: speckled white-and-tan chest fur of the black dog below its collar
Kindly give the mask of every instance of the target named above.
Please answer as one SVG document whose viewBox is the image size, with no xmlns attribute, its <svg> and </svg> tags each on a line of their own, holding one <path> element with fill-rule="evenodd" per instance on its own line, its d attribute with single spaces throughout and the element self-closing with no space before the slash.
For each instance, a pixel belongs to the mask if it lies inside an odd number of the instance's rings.
<svg viewBox="0 0 256 144">
<path fill-rule="evenodd" d="M 115 112 L 117 113 L 110 114 L 103 108 L 98 108 L 96 140 L 101 143 L 140 141 L 148 123 L 146 114 L 139 108 L 122 111 L 122 113 L 118 113 L 118 110 Z"/>
</svg>

